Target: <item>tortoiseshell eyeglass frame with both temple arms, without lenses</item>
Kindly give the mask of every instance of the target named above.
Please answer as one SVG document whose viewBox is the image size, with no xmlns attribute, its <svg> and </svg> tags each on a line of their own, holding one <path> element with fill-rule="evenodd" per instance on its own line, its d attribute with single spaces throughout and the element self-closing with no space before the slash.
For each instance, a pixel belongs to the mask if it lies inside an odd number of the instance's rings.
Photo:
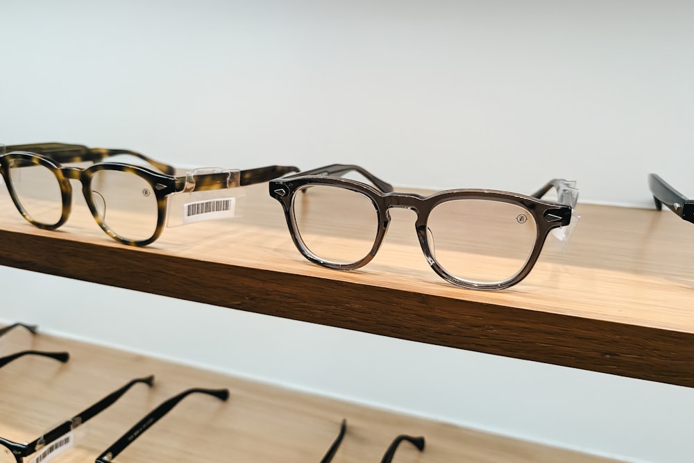
<svg viewBox="0 0 694 463">
<path fill-rule="evenodd" d="M 29 152 L 29 151 L 16 151 L 16 148 L 32 148 L 37 151 L 43 151 L 42 154 Z M 6 154 L 3 154 L 6 153 Z M 108 154 L 106 154 L 108 153 Z M 44 230 L 56 230 L 65 224 L 67 221 L 71 208 L 72 208 L 72 187 L 70 180 L 79 180 L 82 184 L 82 192 L 87 202 L 87 206 L 92 213 L 92 217 L 101 230 L 106 233 L 106 235 L 112 237 L 117 242 L 121 244 L 126 244 L 129 246 L 147 246 L 160 237 L 164 226 L 166 224 L 167 217 L 167 196 L 172 193 L 184 192 L 187 188 L 187 180 L 194 180 L 195 191 L 207 191 L 207 190 L 221 190 L 232 187 L 241 187 L 245 185 L 252 185 L 254 183 L 262 183 L 273 178 L 289 174 L 291 172 L 298 172 L 296 167 L 292 166 L 267 166 L 258 167 L 256 169 L 247 169 L 239 171 L 239 178 L 236 180 L 230 180 L 228 172 L 223 172 L 221 174 L 198 174 L 192 178 L 187 176 L 174 176 L 171 174 L 163 174 L 147 167 L 141 167 L 137 165 L 125 164 L 122 162 L 100 162 L 98 164 L 91 165 L 85 169 L 78 167 L 66 167 L 63 166 L 56 158 L 60 159 L 62 162 L 85 162 L 92 160 L 101 160 L 107 156 L 117 155 L 117 154 L 130 154 L 137 155 L 138 158 L 146 160 L 151 165 L 154 165 L 160 170 L 164 171 L 175 171 L 174 167 L 167 166 L 162 162 L 153 161 L 144 155 L 140 155 L 135 151 L 128 150 L 107 150 L 107 149 L 87 149 L 85 146 L 80 145 L 68 145 L 59 143 L 44 143 L 44 144 L 34 144 L 34 145 L 14 145 L 14 146 L 3 146 L 0 145 L 0 174 L 5 180 L 8 191 L 12 198 L 12 202 L 15 203 L 17 210 L 22 214 L 22 217 L 26 219 L 30 224 L 36 226 L 37 228 L 42 228 Z M 53 176 L 58 180 L 60 185 L 60 192 L 62 198 L 62 212 L 60 214 L 60 219 L 53 224 L 44 224 L 39 221 L 32 219 L 31 215 L 24 210 L 19 197 L 15 192 L 15 188 L 12 186 L 12 181 L 9 174 L 9 169 L 12 163 L 20 162 L 22 165 L 40 165 L 49 169 Z M 100 171 L 123 171 L 133 174 L 145 180 L 151 186 L 151 191 L 155 194 L 157 201 L 157 225 L 154 230 L 153 235 L 146 239 L 128 239 L 127 237 L 122 237 L 115 233 L 114 230 L 109 228 L 108 224 L 101 219 L 99 210 L 94 199 L 92 198 L 92 178 L 94 174 Z"/>
</svg>

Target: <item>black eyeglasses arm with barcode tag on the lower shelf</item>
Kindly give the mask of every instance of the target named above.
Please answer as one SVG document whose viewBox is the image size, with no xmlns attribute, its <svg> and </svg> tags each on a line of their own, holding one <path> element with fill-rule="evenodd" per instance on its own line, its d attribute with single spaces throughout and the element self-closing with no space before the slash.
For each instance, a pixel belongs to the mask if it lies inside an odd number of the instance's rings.
<svg viewBox="0 0 694 463">
<path fill-rule="evenodd" d="M 101 401 L 83 410 L 83 412 L 76 414 L 71 419 L 63 421 L 55 428 L 44 433 L 41 437 L 27 444 L 19 444 L 0 437 L 0 463 L 22 463 L 24 458 L 37 452 L 38 454 L 35 455 L 34 461 L 44 460 L 48 455 L 58 449 L 73 444 L 74 441 L 71 440 L 73 437 L 69 433 L 97 414 L 103 412 L 103 410 L 110 407 L 110 405 L 113 405 L 121 396 L 128 392 L 128 389 L 140 382 L 151 387 L 153 381 L 154 376 L 132 380 L 124 387 L 117 389 L 108 396 L 102 398 Z"/>
</svg>

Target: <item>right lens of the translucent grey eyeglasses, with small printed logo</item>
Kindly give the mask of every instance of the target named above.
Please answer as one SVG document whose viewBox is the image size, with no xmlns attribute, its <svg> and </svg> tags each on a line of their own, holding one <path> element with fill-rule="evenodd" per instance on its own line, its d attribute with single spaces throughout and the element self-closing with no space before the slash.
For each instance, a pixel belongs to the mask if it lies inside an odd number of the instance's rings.
<svg viewBox="0 0 694 463">
<path fill-rule="evenodd" d="M 432 257 L 448 273 L 473 283 L 516 275 L 535 245 L 537 224 L 521 205 L 457 199 L 434 207 L 427 221 Z"/>
</svg>

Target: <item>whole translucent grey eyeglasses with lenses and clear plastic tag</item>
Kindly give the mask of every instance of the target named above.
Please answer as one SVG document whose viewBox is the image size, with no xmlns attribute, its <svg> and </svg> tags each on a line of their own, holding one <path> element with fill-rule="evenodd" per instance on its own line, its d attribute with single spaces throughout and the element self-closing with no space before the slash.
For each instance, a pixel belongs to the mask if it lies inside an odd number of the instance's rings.
<svg viewBox="0 0 694 463">
<path fill-rule="evenodd" d="M 374 186 L 349 178 L 357 172 Z M 352 270 L 371 261 L 390 223 L 391 208 L 417 214 L 415 231 L 434 271 L 454 285 L 504 289 L 530 273 L 552 230 L 568 225 L 575 182 L 551 180 L 530 196 L 495 190 L 448 190 L 430 196 L 393 192 L 355 165 L 329 165 L 269 183 L 285 211 L 291 239 L 322 267 Z M 556 190 L 557 200 L 541 199 Z M 298 194 L 301 193 L 301 194 Z"/>
</svg>

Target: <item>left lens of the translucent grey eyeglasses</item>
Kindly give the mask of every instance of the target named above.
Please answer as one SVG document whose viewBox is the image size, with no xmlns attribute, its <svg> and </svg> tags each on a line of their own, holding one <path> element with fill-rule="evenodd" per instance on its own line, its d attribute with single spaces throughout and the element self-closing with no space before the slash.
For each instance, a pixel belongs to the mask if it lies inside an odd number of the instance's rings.
<svg viewBox="0 0 694 463">
<path fill-rule="evenodd" d="M 351 264 L 373 248 L 378 213 L 367 196 L 328 185 L 294 194 L 294 224 L 306 249 L 321 260 Z"/>
</svg>

